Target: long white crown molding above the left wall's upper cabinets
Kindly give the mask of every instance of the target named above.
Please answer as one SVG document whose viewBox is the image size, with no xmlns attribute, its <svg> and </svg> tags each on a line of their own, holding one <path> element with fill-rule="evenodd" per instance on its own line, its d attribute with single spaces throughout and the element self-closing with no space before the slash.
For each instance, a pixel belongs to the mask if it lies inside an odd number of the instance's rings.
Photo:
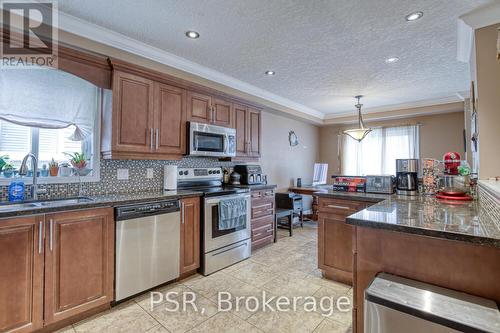
<svg viewBox="0 0 500 333">
<path fill-rule="evenodd" d="M 61 11 L 59 11 L 59 29 L 240 90 L 296 110 L 305 116 L 313 116 L 321 120 L 324 118 L 324 113 L 320 111 Z"/>
</svg>

